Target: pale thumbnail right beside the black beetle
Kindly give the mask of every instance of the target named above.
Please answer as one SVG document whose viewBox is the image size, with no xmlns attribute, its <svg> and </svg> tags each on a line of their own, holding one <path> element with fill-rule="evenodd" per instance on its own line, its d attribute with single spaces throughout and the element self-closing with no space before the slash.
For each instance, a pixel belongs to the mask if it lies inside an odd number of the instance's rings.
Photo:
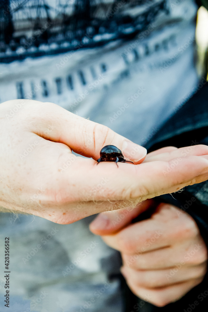
<svg viewBox="0 0 208 312">
<path fill-rule="evenodd" d="M 147 150 L 143 146 L 127 140 L 123 141 L 122 152 L 124 156 L 134 162 L 139 161 L 147 155 Z"/>
</svg>

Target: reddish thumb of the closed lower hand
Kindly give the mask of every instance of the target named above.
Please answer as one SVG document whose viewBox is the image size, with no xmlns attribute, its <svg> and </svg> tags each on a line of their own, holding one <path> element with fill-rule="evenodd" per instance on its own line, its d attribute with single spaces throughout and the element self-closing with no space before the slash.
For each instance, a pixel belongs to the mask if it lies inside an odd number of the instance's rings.
<svg viewBox="0 0 208 312">
<path fill-rule="evenodd" d="M 154 201 L 147 199 L 138 203 L 135 208 L 128 207 L 100 213 L 89 225 L 89 229 L 96 235 L 110 235 L 126 227 L 131 221 L 152 207 Z"/>
</svg>

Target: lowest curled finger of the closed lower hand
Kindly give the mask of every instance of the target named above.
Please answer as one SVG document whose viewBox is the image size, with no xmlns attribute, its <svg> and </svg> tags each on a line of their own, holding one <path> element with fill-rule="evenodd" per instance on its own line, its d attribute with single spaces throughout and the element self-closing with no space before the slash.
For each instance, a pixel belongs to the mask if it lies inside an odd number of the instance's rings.
<svg viewBox="0 0 208 312">
<path fill-rule="evenodd" d="M 152 303 L 158 307 L 163 307 L 171 302 L 181 299 L 187 292 L 189 292 L 196 285 L 202 282 L 202 278 L 188 280 L 186 282 L 175 285 L 162 287 L 158 289 L 149 289 L 137 287 L 127 278 L 127 284 L 132 292 L 139 298 Z"/>
</svg>

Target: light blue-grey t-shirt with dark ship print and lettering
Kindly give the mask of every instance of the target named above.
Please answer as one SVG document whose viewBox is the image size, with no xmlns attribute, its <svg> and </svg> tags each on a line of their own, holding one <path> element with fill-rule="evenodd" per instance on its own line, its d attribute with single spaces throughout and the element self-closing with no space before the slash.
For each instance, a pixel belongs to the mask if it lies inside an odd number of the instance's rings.
<svg viewBox="0 0 208 312">
<path fill-rule="evenodd" d="M 196 11 L 188 0 L 1 1 L 0 102 L 53 102 L 145 145 L 196 88 Z M 123 311 L 119 253 L 89 232 L 92 219 L 1 213 L 12 311 Z"/>
</svg>

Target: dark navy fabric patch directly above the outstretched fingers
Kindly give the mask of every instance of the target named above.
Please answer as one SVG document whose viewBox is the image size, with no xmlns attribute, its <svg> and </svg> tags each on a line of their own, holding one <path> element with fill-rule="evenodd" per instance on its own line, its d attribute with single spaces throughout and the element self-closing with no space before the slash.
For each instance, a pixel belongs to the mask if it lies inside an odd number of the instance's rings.
<svg viewBox="0 0 208 312">
<path fill-rule="evenodd" d="M 145 147 L 151 152 L 168 145 L 182 147 L 199 144 L 207 137 L 207 128 L 208 83 L 202 79 L 191 99 L 167 120 Z"/>
</svg>

